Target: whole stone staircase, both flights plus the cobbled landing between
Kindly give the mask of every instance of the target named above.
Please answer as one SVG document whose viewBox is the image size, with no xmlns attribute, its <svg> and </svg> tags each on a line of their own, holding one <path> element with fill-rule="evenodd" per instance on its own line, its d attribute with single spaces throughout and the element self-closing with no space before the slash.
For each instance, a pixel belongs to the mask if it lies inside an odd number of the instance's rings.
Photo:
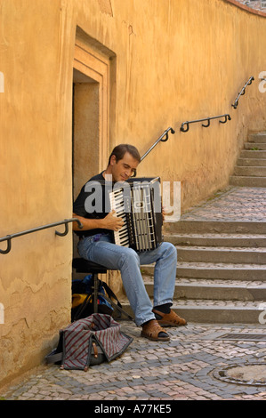
<svg viewBox="0 0 266 418">
<path fill-rule="evenodd" d="M 182 215 L 165 236 L 178 252 L 173 309 L 188 322 L 266 319 L 266 133 L 251 135 L 245 148 L 230 188 Z M 141 266 L 151 299 L 153 269 Z"/>
</svg>

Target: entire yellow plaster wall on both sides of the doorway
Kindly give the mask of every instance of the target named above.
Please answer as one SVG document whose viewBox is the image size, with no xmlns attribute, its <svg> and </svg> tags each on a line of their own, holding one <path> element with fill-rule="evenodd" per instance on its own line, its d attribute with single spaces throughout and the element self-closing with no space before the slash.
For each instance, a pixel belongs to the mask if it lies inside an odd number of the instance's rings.
<svg viewBox="0 0 266 418">
<path fill-rule="evenodd" d="M 182 211 L 228 183 L 247 132 L 266 125 L 258 89 L 266 20 L 233 3 L 0 0 L 0 237 L 71 217 L 77 26 L 115 62 L 109 149 L 126 141 L 144 154 L 172 126 L 138 174 L 181 181 Z M 223 113 L 232 117 L 226 125 L 180 132 L 186 120 Z M 72 237 L 54 230 L 16 238 L 0 254 L 2 383 L 42 362 L 69 323 Z"/>
</svg>

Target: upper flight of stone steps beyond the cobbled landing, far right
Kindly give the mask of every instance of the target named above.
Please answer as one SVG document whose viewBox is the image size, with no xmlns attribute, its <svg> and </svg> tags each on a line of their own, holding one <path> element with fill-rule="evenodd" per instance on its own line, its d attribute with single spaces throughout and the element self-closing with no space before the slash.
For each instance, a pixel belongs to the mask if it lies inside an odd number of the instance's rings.
<svg viewBox="0 0 266 418">
<path fill-rule="evenodd" d="M 266 188 L 266 132 L 249 135 L 230 184 Z"/>
</svg>

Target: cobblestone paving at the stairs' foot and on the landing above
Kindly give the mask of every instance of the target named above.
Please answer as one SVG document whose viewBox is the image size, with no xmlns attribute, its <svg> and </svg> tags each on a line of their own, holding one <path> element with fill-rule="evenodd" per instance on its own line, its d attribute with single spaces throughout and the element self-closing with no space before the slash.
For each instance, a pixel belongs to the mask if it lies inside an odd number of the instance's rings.
<svg viewBox="0 0 266 418">
<path fill-rule="evenodd" d="M 230 188 L 182 218 L 239 220 L 239 216 L 246 221 L 266 221 L 266 189 Z M 99 402 L 266 400 L 264 374 L 247 381 L 241 381 L 239 376 L 237 381 L 227 378 L 229 366 L 266 368 L 265 325 L 191 323 L 167 328 L 170 342 L 141 338 L 141 329 L 129 321 L 121 321 L 121 327 L 125 334 L 133 336 L 133 342 L 120 358 L 91 366 L 87 372 L 41 365 L 0 390 L 0 398 Z M 221 337 L 225 334 L 243 334 L 243 340 Z M 259 340 L 262 334 L 265 338 Z"/>
</svg>

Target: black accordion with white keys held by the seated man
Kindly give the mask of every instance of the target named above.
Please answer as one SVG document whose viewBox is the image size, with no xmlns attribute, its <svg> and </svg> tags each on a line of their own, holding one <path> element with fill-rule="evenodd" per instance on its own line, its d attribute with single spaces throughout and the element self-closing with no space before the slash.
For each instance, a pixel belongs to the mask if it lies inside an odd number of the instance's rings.
<svg viewBox="0 0 266 418">
<path fill-rule="evenodd" d="M 121 185 L 121 187 L 120 187 Z M 150 251 L 163 241 L 160 179 L 133 178 L 118 183 L 109 193 L 110 207 L 124 226 L 114 232 L 117 245 L 137 252 Z"/>
</svg>

